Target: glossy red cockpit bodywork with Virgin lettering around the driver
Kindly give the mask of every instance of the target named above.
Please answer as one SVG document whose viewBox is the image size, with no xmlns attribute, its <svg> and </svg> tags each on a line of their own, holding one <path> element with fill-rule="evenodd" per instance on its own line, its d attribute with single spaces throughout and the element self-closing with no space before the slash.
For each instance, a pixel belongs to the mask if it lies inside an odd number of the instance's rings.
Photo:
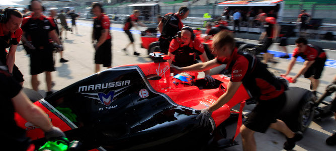
<svg viewBox="0 0 336 151">
<path fill-rule="evenodd" d="M 172 76 L 170 76 L 170 65 L 168 62 L 160 63 L 141 63 L 122 66 L 137 65 L 141 68 L 145 76 L 150 74 L 157 74 L 161 77 L 160 80 L 148 80 L 154 90 L 164 93 L 169 96 L 175 103 L 190 107 L 193 109 L 201 110 L 214 104 L 217 99 L 226 92 L 227 84 L 230 78 L 224 75 L 212 75 L 212 77 L 222 82 L 221 87 L 217 89 L 203 89 L 200 90 L 196 86 L 176 88 L 171 83 Z M 197 80 L 197 79 L 195 79 Z M 221 124 L 230 116 L 230 108 L 239 104 L 242 101 L 249 99 L 249 95 L 243 85 L 239 87 L 233 98 L 223 105 L 221 108 L 213 112 L 212 118 L 216 126 Z"/>
</svg>

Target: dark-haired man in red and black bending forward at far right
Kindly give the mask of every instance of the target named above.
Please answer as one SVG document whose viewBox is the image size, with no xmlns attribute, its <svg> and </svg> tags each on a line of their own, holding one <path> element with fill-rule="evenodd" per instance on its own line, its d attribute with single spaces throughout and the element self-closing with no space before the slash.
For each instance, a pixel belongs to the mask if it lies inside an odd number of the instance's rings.
<svg viewBox="0 0 336 151">
<path fill-rule="evenodd" d="M 305 61 L 303 63 L 303 67 L 294 76 L 293 83 L 296 83 L 297 79 L 301 76 L 301 74 L 303 74 L 304 78 L 307 78 L 311 81 L 310 90 L 312 90 L 313 94 L 316 96 L 316 90 L 319 84 L 318 79 L 321 77 L 321 73 L 327 57 L 326 53 L 321 47 L 307 43 L 308 41 L 304 37 L 296 39 L 296 48 L 293 51 L 292 60 L 288 64 L 286 73 L 281 75 L 287 76 L 292 70 L 297 57 L 301 56 Z"/>
</svg>

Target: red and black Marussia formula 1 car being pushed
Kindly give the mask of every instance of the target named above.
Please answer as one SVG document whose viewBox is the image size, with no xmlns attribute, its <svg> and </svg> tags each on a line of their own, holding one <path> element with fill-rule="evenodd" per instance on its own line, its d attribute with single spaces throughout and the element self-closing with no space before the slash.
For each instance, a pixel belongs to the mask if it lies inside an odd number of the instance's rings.
<svg viewBox="0 0 336 151">
<path fill-rule="evenodd" d="M 69 140 L 79 140 L 82 150 L 195 149 L 216 150 L 236 144 L 242 109 L 251 102 L 240 86 L 233 98 L 212 114 L 207 127 L 196 120 L 199 110 L 209 107 L 226 92 L 230 80 L 212 75 L 215 83 L 178 74 L 171 76 L 169 56 L 155 52 L 153 62 L 113 67 L 80 80 L 34 104 L 48 114 L 54 126 Z M 281 114 L 289 127 L 304 130 L 310 124 L 314 97 L 308 90 L 290 87 Z M 28 94 L 30 98 L 34 96 Z M 34 101 L 34 100 L 33 100 Z M 232 110 L 240 105 L 239 112 Z M 312 107 L 312 108 L 311 108 Z M 238 116 L 237 116 L 238 115 Z M 234 136 L 226 139 L 225 122 L 238 119 Z M 37 146 L 46 140 L 42 130 L 18 114 L 18 125 Z"/>
</svg>

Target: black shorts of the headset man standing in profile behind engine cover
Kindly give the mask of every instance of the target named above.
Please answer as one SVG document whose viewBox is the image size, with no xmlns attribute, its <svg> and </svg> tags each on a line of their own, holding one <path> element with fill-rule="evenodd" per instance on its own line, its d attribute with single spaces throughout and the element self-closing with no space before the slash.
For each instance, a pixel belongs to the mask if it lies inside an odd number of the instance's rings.
<svg viewBox="0 0 336 151">
<path fill-rule="evenodd" d="M 106 40 L 95 53 L 95 63 L 103 64 L 104 67 L 109 67 L 112 64 L 112 43 L 111 39 Z"/>
</svg>

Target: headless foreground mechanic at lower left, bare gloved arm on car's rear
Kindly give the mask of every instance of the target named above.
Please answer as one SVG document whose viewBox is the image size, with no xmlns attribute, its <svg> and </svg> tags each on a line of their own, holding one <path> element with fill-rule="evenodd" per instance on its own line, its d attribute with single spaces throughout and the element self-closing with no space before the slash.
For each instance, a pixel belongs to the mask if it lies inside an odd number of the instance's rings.
<svg viewBox="0 0 336 151">
<path fill-rule="evenodd" d="M 7 66 L 0 62 L 0 94 L 2 96 L 1 115 L 2 134 L 5 138 L 2 144 L 10 147 L 9 150 L 35 150 L 35 145 L 26 136 L 26 130 L 20 128 L 14 120 L 16 111 L 30 123 L 38 126 L 44 131 L 47 140 L 65 137 L 65 134 L 52 123 L 42 109 L 34 105 L 28 97 L 21 91 L 22 86 L 8 72 Z M 4 87 L 6 86 L 6 87 Z M 5 147 L 6 148 L 6 147 Z"/>
</svg>

